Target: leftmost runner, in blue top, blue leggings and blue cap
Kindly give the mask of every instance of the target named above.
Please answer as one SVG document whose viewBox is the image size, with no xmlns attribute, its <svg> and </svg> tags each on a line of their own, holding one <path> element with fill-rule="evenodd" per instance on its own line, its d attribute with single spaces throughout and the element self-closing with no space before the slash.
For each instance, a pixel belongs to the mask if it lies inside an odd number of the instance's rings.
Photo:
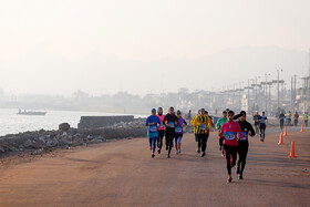
<svg viewBox="0 0 310 207">
<path fill-rule="evenodd" d="M 156 116 L 156 110 L 152 110 L 152 115 L 146 118 L 145 126 L 148 126 L 148 143 L 152 151 L 152 157 L 155 157 L 156 141 L 158 138 L 159 118 Z"/>
</svg>

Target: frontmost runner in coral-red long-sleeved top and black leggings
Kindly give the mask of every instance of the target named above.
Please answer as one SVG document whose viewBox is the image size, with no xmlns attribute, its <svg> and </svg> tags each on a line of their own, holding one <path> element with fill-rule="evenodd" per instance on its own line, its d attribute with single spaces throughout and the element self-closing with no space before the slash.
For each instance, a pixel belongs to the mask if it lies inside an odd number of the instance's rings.
<svg viewBox="0 0 310 207">
<path fill-rule="evenodd" d="M 244 138 L 240 125 L 234 122 L 235 112 L 228 112 L 228 122 L 223 124 L 219 134 L 220 138 L 224 138 L 224 153 L 226 157 L 226 167 L 228 173 L 227 183 L 231 183 L 231 168 L 236 165 L 237 152 L 238 152 L 238 137 L 237 132 L 239 133 L 239 138 Z"/>
</svg>

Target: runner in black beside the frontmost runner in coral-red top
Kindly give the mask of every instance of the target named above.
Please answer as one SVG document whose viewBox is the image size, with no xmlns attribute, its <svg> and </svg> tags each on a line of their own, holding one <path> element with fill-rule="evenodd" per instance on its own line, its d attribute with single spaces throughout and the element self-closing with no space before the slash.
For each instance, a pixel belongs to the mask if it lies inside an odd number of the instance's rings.
<svg viewBox="0 0 310 207">
<path fill-rule="evenodd" d="M 236 170 L 239 179 L 244 178 L 242 175 L 244 175 L 244 169 L 246 167 L 246 159 L 247 159 L 248 148 L 249 148 L 248 135 L 255 136 L 255 131 L 251 124 L 246 121 L 246 118 L 247 118 L 247 113 L 245 111 L 241 111 L 238 124 L 240 125 L 244 137 L 239 138 L 238 141 L 239 159 L 238 159 L 238 165 Z"/>
</svg>

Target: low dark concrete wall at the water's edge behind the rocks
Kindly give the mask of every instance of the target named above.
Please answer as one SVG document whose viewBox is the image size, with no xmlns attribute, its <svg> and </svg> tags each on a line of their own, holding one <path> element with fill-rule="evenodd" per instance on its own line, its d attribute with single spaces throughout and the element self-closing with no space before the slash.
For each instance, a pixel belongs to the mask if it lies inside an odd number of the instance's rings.
<svg viewBox="0 0 310 207">
<path fill-rule="evenodd" d="M 111 126 L 120 122 L 133 122 L 134 116 L 81 116 L 79 130 L 83 128 L 100 128 Z"/>
</svg>

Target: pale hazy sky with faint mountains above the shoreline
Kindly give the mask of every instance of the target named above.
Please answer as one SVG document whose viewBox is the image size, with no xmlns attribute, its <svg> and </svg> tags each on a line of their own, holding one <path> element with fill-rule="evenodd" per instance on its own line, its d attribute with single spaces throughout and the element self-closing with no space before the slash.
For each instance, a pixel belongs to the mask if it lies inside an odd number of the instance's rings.
<svg viewBox="0 0 310 207">
<path fill-rule="evenodd" d="M 145 94 L 221 89 L 246 81 L 239 80 L 245 70 L 251 79 L 278 66 L 287 76 L 302 73 L 309 8 L 309 0 L 1 0 L 0 87 L 16 94 Z M 301 58 L 283 63 L 271 56 L 259 69 L 248 65 L 264 58 L 220 59 L 223 51 L 230 56 L 227 51 L 245 46 L 276 46 Z"/>
</svg>

